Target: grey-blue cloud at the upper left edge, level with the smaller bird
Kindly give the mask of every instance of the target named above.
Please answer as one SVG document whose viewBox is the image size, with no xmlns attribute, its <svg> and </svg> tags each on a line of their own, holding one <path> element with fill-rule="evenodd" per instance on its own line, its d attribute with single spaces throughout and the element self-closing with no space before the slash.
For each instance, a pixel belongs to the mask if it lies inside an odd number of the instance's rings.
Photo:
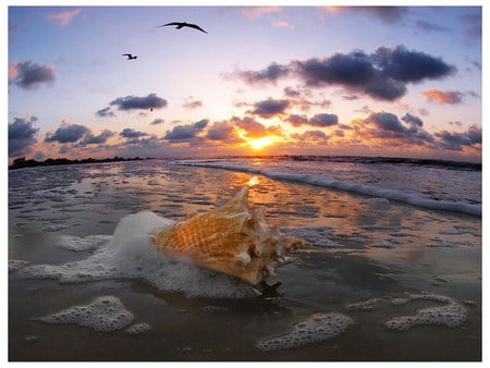
<svg viewBox="0 0 490 368">
<path fill-rule="evenodd" d="M 35 89 L 42 83 L 53 82 L 53 65 L 39 65 L 32 61 L 14 61 L 9 65 L 9 84 L 13 83 L 23 89 Z"/>
</svg>

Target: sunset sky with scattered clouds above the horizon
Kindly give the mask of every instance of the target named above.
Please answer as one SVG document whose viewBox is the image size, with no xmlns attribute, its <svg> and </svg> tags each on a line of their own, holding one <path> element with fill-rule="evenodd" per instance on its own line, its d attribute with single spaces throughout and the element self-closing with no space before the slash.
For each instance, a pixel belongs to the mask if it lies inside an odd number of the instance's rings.
<svg viewBox="0 0 490 368">
<path fill-rule="evenodd" d="M 481 162 L 480 5 L 11 4 L 7 17 L 10 162 Z"/>
</svg>

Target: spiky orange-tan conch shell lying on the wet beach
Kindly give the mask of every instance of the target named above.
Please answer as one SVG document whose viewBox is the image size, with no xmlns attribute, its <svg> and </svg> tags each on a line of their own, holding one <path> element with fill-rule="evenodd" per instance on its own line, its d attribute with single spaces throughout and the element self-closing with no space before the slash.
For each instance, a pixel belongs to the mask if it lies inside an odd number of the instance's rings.
<svg viewBox="0 0 490 368">
<path fill-rule="evenodd" d="M 164 254 L 224 272 L 252 284 L 262 271 L 273 274 L 272 262 L 305 245 L 302 240 L 270 229 L 262 208 L 250 210 L 248 188 L 208 212 L 191 213 L 152 233 L 152 244 Z"/>
</svg>

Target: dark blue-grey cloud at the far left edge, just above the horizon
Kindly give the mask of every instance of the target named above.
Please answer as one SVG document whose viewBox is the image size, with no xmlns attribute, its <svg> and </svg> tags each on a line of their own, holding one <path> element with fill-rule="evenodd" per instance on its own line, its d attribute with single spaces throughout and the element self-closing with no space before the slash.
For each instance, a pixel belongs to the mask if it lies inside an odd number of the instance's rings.
<svg viewBox="0 0 490 368">
<path fill-rule="evenodd" d="M 30 146 L 37 143 L 38 127 L 34 127 L 36 116 L 29 119 L 14 118 L 9 123 L 9 157 L 23 156 L 30 151 Z"/>
</svg>

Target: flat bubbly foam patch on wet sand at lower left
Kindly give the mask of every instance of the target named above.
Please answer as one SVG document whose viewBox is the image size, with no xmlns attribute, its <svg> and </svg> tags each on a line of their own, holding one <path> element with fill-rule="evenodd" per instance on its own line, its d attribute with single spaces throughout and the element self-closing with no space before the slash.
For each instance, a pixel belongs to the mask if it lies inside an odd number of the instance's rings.
<svg viewBox="0 0 490 368">
<path fill-rule="evenodd" d="M 47 323 L 73 323 L 95 331 L 120 330 L 133 321 L 133 314 L 126 310 L 115 296 L 100 296 L 87 305 L 73 306 L 39 318 Z"/>
</svg>

